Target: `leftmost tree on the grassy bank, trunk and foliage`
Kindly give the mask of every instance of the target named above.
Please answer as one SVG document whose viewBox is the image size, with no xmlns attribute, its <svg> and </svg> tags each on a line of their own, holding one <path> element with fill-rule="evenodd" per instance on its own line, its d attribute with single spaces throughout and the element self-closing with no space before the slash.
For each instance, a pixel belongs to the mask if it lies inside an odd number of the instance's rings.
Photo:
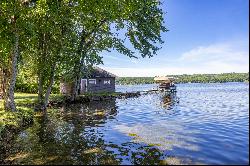
<svg viewBox="0 0 250 166">
<path fill-rule="evenodd" d="M 0 2 L 0 68 L 5 110 L 15 111 L 14 89 L 17 76 L 17 63 L 22 39 L 27 34 L 27 13 L 29 6 L 25 1 Z M 20 41 L 21 40 L 21 41 Z"/>
</svg>

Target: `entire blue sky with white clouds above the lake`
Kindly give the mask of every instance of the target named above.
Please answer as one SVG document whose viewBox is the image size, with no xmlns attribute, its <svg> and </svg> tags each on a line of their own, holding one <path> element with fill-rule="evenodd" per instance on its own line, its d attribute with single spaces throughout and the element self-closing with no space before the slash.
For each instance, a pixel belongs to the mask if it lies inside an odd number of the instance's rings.
<svg viewBox="0 0 250 166">
<path fill-rule="evenodd" d="M 162 2 L 169 31 L 157 55 L 131 59 L 103 52 L 99 67 L 119 77 L 249 72 L 249 0 Z"/>
</svg>

